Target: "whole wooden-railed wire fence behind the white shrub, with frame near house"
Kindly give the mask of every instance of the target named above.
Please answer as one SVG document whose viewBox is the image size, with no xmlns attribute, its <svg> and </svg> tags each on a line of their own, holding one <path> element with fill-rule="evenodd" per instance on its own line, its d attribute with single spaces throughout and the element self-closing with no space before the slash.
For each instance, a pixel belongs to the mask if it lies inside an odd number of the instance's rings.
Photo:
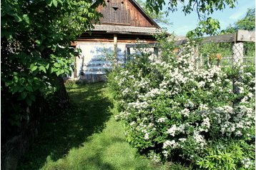
<svg viewBox="0 0 256 170">
<path fill-rule="evenodd" d="M 232 78 L 233 91 L 235 94 L 240 93 L 237 83 L 241 81 L 241 75 L 245 67 L 253 66 L 255 68 L 255 31 L 238 30 L 234 34 L 225 34 L 219 36 L 209 36 L 202 39 L 197 39 L 198 42 L 193 44 L 192 51 L 195 58 L 191 59 L 192 64 L 199 67 L 209 65 L 217 66 L 232 66 L 233 69 L 239 69 L 239 73 Z M 181 46 L 187 43 L 187 39 L 175 41 L 174 45 Z M 126 54 L 129 57 L 131 49 L 142 44 L 127 44 Z M 159 56 L 157 44 L 146 44 L 144 48 L 154 49 L 154 55 Z M 176 52 L 177 52 L 176 51 Z M 177 52 L 178 53 L 178 52 Z M 233 104 L 238 104 L 240 101 L 235 101 Z"/>
</svg>

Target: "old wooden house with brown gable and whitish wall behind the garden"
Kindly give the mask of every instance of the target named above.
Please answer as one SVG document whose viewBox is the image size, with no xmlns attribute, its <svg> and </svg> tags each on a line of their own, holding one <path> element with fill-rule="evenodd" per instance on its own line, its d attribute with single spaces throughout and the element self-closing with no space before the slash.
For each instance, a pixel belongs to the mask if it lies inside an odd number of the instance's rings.
<svg viewBox="0 0 256 170">
<path fill-rule="evenodd" d="M 99 6 L 103 14 L 100 24 L 95 24 L 92 33 L 82 34 L 75 45 L 82 49 L 82 55 L 75 60 L 73 78 L 89 82 L 104 81 L 105 69 L 111 65 L 107 53 L 114 53 L 119 62 L 125 62 L 127 44 L 137 41 L 155 43 L 154 34 L 160 26 L 134 0 L 105 0 L 106 6 Z"/>
</svg>

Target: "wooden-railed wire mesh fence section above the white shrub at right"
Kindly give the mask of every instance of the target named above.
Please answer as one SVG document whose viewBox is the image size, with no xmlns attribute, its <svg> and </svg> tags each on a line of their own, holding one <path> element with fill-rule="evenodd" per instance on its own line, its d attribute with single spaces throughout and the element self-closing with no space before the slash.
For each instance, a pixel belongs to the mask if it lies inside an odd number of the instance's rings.
<svg viewBox="0 0 256 170">
<path fill-rule="evenodd" d="M 187 39 L 176 41 L 182 45 Z M 197 64 L 205 66 L 252 66 L 255 65 L 255 31 L 238 30 L 234 34 L 208 36 L 199 40 L 194 46 L 200 61 Z"/>
</svg>

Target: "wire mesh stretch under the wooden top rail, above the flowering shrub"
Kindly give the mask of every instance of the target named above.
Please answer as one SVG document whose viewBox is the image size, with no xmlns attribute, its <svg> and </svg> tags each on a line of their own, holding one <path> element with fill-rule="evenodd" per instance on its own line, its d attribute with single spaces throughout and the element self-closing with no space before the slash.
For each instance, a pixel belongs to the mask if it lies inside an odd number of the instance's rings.
<svg viewBox="0 0 256 170">
<path fill-rule="evenodd" d="M 200 66 L 255 66 L 255 42 L 200 44 Z"/>
</svg>

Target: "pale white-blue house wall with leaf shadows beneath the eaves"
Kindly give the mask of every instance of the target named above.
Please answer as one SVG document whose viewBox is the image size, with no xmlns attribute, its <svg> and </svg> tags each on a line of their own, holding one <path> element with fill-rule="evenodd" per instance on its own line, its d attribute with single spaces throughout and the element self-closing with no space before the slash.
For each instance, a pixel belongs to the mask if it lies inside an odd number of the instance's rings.
<svg viewBox="0 0 256 170">
<path fill-rule="evenodd" d="M 114 44 L 109 42 L 77 42 L 77 48 L 82 50 L 77 57 L 77 78 L 92 79 L 89 81 L 104 81 L 106 69 L 111 69 L 107 56 L 114 55 Z M 124 63 L 125 44 L 117 44 L 117 60 Z"/>
</svg>

